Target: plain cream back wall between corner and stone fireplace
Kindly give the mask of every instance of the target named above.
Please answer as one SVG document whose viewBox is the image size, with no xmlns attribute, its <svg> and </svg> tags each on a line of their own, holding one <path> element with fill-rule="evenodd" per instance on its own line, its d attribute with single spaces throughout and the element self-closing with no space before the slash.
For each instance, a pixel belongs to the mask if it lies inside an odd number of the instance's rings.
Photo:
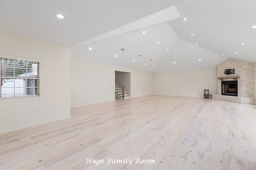
<svg viewBox="0 0 256 170">
<path fill-rule="evenodd" d="M 217 94 L 217 68 L 153 74 L 153 92 L 159 95 L 204 97 L 204 89 Z"/>
</svg>

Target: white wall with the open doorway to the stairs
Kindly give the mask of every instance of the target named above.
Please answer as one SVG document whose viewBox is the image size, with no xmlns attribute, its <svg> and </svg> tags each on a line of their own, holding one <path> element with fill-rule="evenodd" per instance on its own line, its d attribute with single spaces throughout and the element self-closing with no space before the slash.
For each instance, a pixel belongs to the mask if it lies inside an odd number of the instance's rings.
<svg viewBox="0 0 256 170">
<path fill-rule="evenodd" d="M 131 97 L 152 94 L 152 73 L 71 59 L 71 107 L 115 100 L 115 71 L 131 73 Z"/>
</svg>

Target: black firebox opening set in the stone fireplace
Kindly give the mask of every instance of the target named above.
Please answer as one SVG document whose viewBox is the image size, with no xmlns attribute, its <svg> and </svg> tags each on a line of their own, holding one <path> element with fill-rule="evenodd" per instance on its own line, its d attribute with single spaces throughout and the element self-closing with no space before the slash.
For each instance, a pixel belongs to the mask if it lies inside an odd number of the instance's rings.
<svg viewBox="0 0 256 170">
<path fill-rule="evenodd" d="M 237 89 L 238 89 L 237 88 L 237 80 L 221 82 L 221 94 L 222 95 L 238 96 Z"/>
</svg>

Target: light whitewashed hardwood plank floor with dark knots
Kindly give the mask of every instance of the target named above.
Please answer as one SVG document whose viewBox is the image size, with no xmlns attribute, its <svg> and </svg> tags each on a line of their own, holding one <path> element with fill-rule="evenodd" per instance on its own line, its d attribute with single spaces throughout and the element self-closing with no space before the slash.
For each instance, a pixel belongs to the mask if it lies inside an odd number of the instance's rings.
<svg viewBox="0 0 256 170">
<path fill-rule="evenodd" d="M 0 134 L 0 169 L 256 170 L 250 104 L 150 95 L 71 115 Z M 91 157 L 104 163 L 85 163 Z"/>
</svg>

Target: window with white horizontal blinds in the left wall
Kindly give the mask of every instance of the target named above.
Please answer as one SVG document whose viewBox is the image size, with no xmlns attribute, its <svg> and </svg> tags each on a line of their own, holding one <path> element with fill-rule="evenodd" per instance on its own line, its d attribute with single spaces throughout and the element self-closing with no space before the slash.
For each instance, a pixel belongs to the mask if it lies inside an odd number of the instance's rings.
<svg viewBox="0 0 256 170">
<path fill-rule="evenodd" d="M 0 55 L 0 100 L 39 97 L 40 63 L 2 56 Z"/>
</svg>

